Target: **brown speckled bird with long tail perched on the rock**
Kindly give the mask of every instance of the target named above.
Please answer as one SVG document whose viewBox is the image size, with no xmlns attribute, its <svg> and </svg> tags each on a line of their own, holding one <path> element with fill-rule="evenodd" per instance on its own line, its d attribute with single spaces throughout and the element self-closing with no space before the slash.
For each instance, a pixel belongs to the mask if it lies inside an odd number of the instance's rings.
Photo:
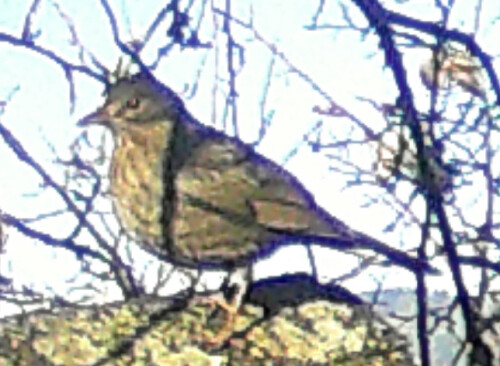
<svg viewBox="0 0 500 366">
<path fill-rule="evenodd" d="M 196 120 L 151 72 L 118 78 L 105 94 L 78 125 L 112 133 L 110 192 L 120 225 L 160 259 L 228 271 L 231 296 L 216 305 L 229 325 L 217 338 L 230 334 L 252 261 L 274 245 L 367 248 L 411 271 L 432 271 L 329 214 L 294 175 L 251 145 Z"/>
</svg>

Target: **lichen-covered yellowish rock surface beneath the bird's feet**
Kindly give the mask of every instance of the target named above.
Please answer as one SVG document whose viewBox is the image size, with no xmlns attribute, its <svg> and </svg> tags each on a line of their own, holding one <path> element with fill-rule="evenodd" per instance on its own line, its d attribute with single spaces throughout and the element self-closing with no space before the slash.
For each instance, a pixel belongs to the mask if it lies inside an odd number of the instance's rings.
<svg viewBox="0 0 500 366">
<path fill-rule="evenodd" d="M 400 336 L 377 336 L 345 305 L 317 301 L 263 321 L 246 305 L 223 347 L 207 342 L 223 325 L 213 314 L 129 303 L 11 317 L 0 320 L 0 366 L 411 365 Z"/>
</svg>

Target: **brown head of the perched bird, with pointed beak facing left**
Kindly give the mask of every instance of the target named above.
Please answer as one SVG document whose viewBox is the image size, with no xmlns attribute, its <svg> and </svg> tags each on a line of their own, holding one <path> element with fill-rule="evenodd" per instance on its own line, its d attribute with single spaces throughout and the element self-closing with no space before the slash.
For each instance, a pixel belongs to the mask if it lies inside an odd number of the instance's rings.
<svg viewBox="0 0 500 366">
<path fill-rule="evenodd" d="M 144 125 L 175 123 L 183 103 L 151 75 L 139 73 L 119 79 L 106 91 L 104 105 L 82 118 L 79 126 L 103 125 L 113 132 Z"/>
</svg>

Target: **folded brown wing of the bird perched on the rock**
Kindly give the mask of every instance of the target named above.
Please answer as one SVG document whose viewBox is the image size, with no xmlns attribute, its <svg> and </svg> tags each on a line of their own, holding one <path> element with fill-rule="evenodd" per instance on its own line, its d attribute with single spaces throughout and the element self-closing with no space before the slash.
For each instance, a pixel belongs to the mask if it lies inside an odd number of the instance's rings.
<svg viewBox="0 0 500 366">
<path fill-rule="evenodd" d="M 219 187 L 216 205 L 225 206 L 230 200 L 239 214 L 269 229 L 318 231 L 322 226 L 326 230 L 326 223 L 313 209 L 312 197 L 300 183 L 246 146 L 233 140 L 217 141 L 206 144 L 197 156 L 198 167 L 210 171 L 213 184 Z"/>
</svg>

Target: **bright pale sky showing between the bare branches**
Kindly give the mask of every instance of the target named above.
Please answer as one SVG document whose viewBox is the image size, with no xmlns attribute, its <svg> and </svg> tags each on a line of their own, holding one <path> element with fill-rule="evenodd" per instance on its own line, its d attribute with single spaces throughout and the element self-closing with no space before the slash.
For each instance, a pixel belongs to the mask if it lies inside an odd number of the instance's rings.
<svg viewBox="0 0 500 366">
<path fill-rule="evenodd" d="M 39 12 L 33 18 L 33 29 L 39 30 L 36 43 L 53 50 L 68 61 L 78 63 L 78 53 L 69 43 L 70 33 L 66 23 L 58 15 L 59 4 L 75 24 L 80 41 L 98 56 L 108 68 L 113 69 L 120 52 L 113 43 L 111 31 L 104 12 L 98 2 L 46 1 L 42 2 Z M 119 20 L 120 35 L 123 40 L 132 37 L 142 37 L 163 6 L 162 1 L 151 1 L 151 6 L 145 7 L 141 1 L 110 1 Z M 198 2 L 202 4 L 203 2 Z M 223 1 L 213 1 L 215 7 L 224 7 Z M 411 3 L 411 4 L 409 4 Z M 400 11 L 410 16 L 418 16 L 423 20 L 437 20 L 439 13 L 433 9 L 433 1 L 385 2 L 388 8 Z M 450 16 L 449 26 L 461 30 L 472 31 L 473 23 L 470 1 L 457 1 L 455 11 Z M 236 5 L 237 4 L 237 5 Z M 235 16 L 248 20 L 253 14 L 254 27 L 265 38 L 268 44 L 279 47 L 286 59 L 273 61 L 272 53 L 263 42 L 252 41 L 252 33 L 242 27 L 233 25 L 235 37 L 245 42 L 246 64 L 237 78 L 238 113 L 241 138 L 253 141 L 260 122 L 263 85 L 273 65 L 272 87 L 266 99 L 264 114 L 273 114 L 272 125 L 258 152 L 271 158 L 295 174 L 314 194 L 317 202 L 332 215 L 338 217 L 351 227 L 363 231 L 377 239 L 398 246 L 401 236 L 406 245 L 416 246 L 420 233 L 418 227 L 398 227 L 394 232 L 383 232 L 383 229 L 393 218 L 392 210 L 387 205 L 363 207 L 367 196 L 373 197 L 380 193 L 374 189 L 367 191 L 366 187 L 343 189 L 345 177 L 330 169 L 331 161 L 321 154 L 313 153 L 302 144 L 304 133 L 310 130 L 321 117 L 312 112 L 312 107 L 326 108 L 326 101 L 300 77 L 298 72 L 304 72 L 319 88 L 326 92 L 337 104 L 346 108 L 362 121 L 370 121 L 370 127 L 379 131 L 384 126 L 384 120 L 379 113 L 359 97 L 376 98 L 377 101 L 391 103 L 397 95 L 397 89 L 390 70 L 383 67 L 384 59 L 378 50 L 378 38 L 373 32 L 364 37 L 356 31 L 335 33 L 332 29 L 309 31 L 303 26 L 311 23 L 315 11 L 315 2 L 296 1 L 289 6 L 286 1 L 254 1 L 252 7 L 249 1 L 235 2 Z M 492 34 L 494 24 L 488 19 L 488 14 L 498 15 L 495 1 L 483 2 L 480 31 L 477 33 L 479 44 L 491 54 L 498 53 Z M 4 0 L 0 13 L 0 32 L 20 35 L 24 14 L 30 6 L 29 1 Z M 328 8 L 331 7 L 331 8 Z M 329 2 L 320 23 L 340 24 L 342 15 L 335 2 Z M 349 7 L 352 21 L 356 26 L 365 27 L 366 21 L 354 8 Z M 201 8 L 197 11 L 200 12 Z M 490 11 L 491 10 L 491 11 Z M 127 16 L 123 16 L 128 14 Z M 197 14 L 196 11 L 192 14 Z M 279 21 L 277 21 L 279 17 Z M 165 22 L 167 24 L 168 22 Z M 200 31 L 200 38 L 207 39 L 214 46 L 222 47 L 219 52 L 213 49 L 185 50 L 174 49 L 168 58 L 158 67 L 155 75 L 179 93 L 192 114 L 203 123 L 221 127 L 223 115 L 224 83 L 222 82 L 213 97 L 213 80 L 219 75 L 224 79 L 223 67 L 226 38 L 222 33 L 214 32 L 216 25 L 221 24 L 220 17 L 205 14 Z M 498 30 L 496 31 L 498 34 Z M 165 25 L 155 33 L 151 42 L 145 48 L 142 56 L 146 63 L 153 60 L 159 45 L 165 42 Z M 418 78 L 418 68 L 425 57 L 425 50 L 405 48 L 403 60 L 408 70 L 408 77 L 415 93 L 417 106 L 425 108 L 429 103 L 429 94 Z M 274 62 L 274 63 L 273 63 Z M 498 65 L 498 64 L 496 64 Z M 28 152 L 50 172 L 59 182 L 63 183 L 65 176 L 57 159 L 70 158 L 69 146 L 82 133 L 76 127 L 76 121 L 86 113 L 93 111 L 102 103 L 102 85 L 85 75 L 74 74 L 76 85 L 76 104 L 73 113 L 69 108 L 68 84 L 61 69 L 46 58 L 20 47 L 0 43 L 0 66 L 9 72 L 0 73 L 0 99 L 5 99 L 9 92 L 19 87 L 14 93 L 4 113 L 0 115 L 0 123 L 8 127 L 20 140 Z M 293 69 L 292 69 L 293 67 Z M 292 72 L 292 71 L 295 72 Z M 197 79 L 199 75 L 199 78 Z M 221 76 L 222 75 L 222 76 Z M 193 92 L 193 85 L 198 86 Z M 216 116 L 215 118 L 213 116 Z M 208 117 L 208 118 L 207 118 Z M 348 136 L 350 123 L 345 119 L 323 119 L 323 134 Z M 99 143 L 104 131 L 93 128 L 89 139 Z M 110 136 L 106 135 L 108 146 Z M 287 158 L 290 151 L 299 147 L 297 154 Z M 92 149 L 82 147 L 85 154 L 95 154 Z M 373 149 L 361 146 L 351 156 L 353 161 L 365 169 L 371 169 Z M 48 211 L 64 209 L 64 204 L 51 190 L 40 188 L 40 180 L 27 166 L 20 164 L 12 152 L 0 140 L 0 207 L 17 217 L 33 217 Z M 101 167 L 105 174 L 106 167 Z M 478 183 L 479 184 L 479 183 Z M 405 196 L 408 187 L 401 185 L 397 194 Z M 484 211 L 484 200 L 475 202 L 477 189 L 463 195 L 464 205 L 470 207 L 467 215 L 478 216 Z M 99 199 L 99 209 L 111 212 L 111 202 Z M 417 199 L 413 206 L 417 216 L 423 217 L 423 201 Z M 76 221 L 70 215 L 57 215 L 41 222 L 33 223 L 33 227 L 64 237 L 71 232 Z M 118 223 L 109 220 L 110 225 L 118 228 Z M 15 285 L 22 285 L 43 291 L 47 294 L 67 294 L 68 288 L 75 284 L 85 284 L 91 281 L 89 275 L 81 273 L 79 263 L 73 254 L 49 248 L 42 243 L 26 239 L 15 230 L 8 230 L 9 241 L 6 253 L 2 254 L 0 265 L 2 273 L 11 275 Z M 84 235 L 80 238 L 85 242 Z M 155 283 L 156 269 L 165 267 L 147 253 L 134 245 L 128 245 L 137 263 L 137 274 L 144 274 L 150 285 Z M 325 248 L 314 248 L 316 266 L 320 279 L 328 281 L 339 274 L 349 271 L 357 265 L 355 257 Z M 305 248 L 291 245 L 278 250 L 270 258 L 259 260 L 255 266 L 255 278 L 279 275 L 284 272 L 310 271 L 306 260 Z M 434 263 L 445 271 L 441 276 L 434 276 L 428 281 L 428 287 L 433 290 L 452 290 L 451 278 L 446 271 L 446 263 Z M 96 267 L 97 268 L 97 267 Z M 5 272 L 4 272 L 5 271 Z M 466 271 L 466 280 L 470 288 L 477 287 L 477 273 Z M 217 283 L 219 273 L 212 275 Z M 207 278 L 212 278 L 208 276 Z M 71 280 L 70 282 L 68 282 Z M 377 280 L 383 281 L 384 288 L 413 287 L 413 275 L 404 269 L 384 269 L 366 271 L 354 279 L 343 283 L 354 292 L 373 290 Z M 183 282 L 184 281 L 184 282 Z M 214 282 L 215 281 L 215 282 Z M 97 286 L 97 285 L 96 285 Z M 117 299 L 119 291 L 113 283 L 99 284 L 102 286 L 103 301 Z M 165 293 L 173 293 L 185 286 L 182 274 L 176 274 L 169 283 Z M 81 294 L 67 294 L 78 297 Z M 8 306 L 0 307 L 0 316 L 16 309 Z"/>
</svg>

